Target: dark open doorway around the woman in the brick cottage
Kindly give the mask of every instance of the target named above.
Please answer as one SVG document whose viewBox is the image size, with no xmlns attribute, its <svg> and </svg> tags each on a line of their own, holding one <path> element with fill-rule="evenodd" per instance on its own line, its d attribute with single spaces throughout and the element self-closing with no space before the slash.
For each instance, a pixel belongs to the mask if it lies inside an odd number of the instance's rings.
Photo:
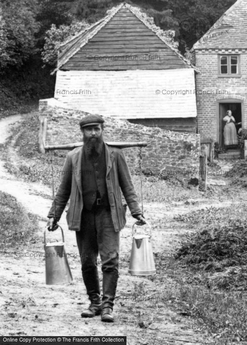
<svg viewBox="0 0 247 345">
<path fill-rule="evenodd" d="M 237 129 L 237 133 L 239 132 L 240 128 L 242 128 L 242 108 L 241 103 L 220 103 L 219 104 L 219 145 L 224 146 L 224 126 L 225 121 L 223 121 L 223 117 L 226 116 L 227 110 L 232 111 L 232 116 L 235 118 L 235 126 Z"/>
</svg>

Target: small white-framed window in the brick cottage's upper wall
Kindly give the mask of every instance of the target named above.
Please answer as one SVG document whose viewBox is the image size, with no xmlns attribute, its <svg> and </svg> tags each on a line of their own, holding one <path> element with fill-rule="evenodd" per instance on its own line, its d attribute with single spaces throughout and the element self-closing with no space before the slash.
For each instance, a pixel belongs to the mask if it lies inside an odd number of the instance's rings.
<svg viewBox="0 0 247 345">
<path fill-rule="evenodd" d="M 236 76 L 240 75 L 239 55 L 219 55 L 219 75 Z"/>
</svg>

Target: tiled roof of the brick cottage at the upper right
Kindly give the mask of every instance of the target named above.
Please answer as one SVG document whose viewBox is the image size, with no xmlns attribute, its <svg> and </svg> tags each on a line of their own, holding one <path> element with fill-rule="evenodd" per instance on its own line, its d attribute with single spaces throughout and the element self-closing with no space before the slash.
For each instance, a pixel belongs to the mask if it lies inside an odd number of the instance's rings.
<svg viewBox="0 0 247 345">
<path fill-rule="evenodd" d="M 247 0 L 237 0 L 192 49 L 206 48 L 247 48 Z"/>
</svg>

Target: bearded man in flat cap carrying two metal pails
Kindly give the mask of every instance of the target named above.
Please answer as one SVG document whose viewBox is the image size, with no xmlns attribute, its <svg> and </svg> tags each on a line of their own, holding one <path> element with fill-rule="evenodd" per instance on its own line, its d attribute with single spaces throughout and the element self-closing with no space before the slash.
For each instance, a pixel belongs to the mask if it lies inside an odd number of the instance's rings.
<svg viewBox="0 0 247 345">
<path fill-rule="evenodd" d="M 112 314 L 119 270 L 120 230 L 124 228 L 126 205 L 131 215 L 145 223 L 137 201 L 130 172 L 121 149 L 103 141 L 104 120 L 98 115 L 80 121 L 83 145 L 71 151 L 62 169 L 62 177 L 48 213 L 48 230 L 56 222 L 70 198 L 67 222 L 76 231 L 82 262 L 82 278 L 90 300 L 82 317 L 101 314 L 101 320 L 113 322 Z M 55 209 L 55 211 L 54 211 Z M 55 214 L 54 214 L 55 212 Z M 97 269 L 97 256 L 102 263 L 102 300 Z"/>
</svg>

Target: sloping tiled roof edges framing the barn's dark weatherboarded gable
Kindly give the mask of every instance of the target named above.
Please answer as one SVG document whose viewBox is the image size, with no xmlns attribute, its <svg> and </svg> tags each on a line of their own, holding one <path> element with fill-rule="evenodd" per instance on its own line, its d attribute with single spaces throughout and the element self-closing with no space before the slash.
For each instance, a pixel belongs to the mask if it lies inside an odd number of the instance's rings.
<svg viewBox="0 0 247 345">
<path fill-rule="evenodd" d="M 147 28 L 152 30 L 170 49 L 172 49 L 186 65 L 189 65 L 197 70 L 194 66 L 192 66 L 189 60 L 185 59 L 177 49 L 172 47 L 165 40 L 164 31 L 153 23 L 152 18 L 147 17 L 146 14 L 141 12 L 138 7 L 134 7 L 123 2 L 109 10 L 107 12 L 107 16 L 99 20 L 97 23 L 94 23 L 86 30 L 62 43 L 59 47 L 57 68 L 54 69 L 51 74 L 62 68 L 62 66 L 68 62 L 91 38 L 93 38 L 100 31 L 100 29 L 102 29 L 122 8 L 128 8 L 135 15 L 135 17 L 137 17 L 143 24 L 145 24 Z"/>
</svg>

